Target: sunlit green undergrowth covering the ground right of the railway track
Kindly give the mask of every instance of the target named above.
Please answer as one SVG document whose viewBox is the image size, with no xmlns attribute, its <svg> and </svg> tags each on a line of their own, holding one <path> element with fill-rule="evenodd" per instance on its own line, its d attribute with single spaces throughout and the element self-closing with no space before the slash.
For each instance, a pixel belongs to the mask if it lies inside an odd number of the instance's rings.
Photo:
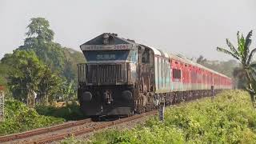
<svg viewBox="0 0 256 144">
<path fill-rule="evenodd" d="M 65 142 L 85 143 L 74 138 Z M 256 111 L 249 94 L 227 90 L 166 109 L 165 121 L 150 118 L 131 130 L 105 130 L 88 143 L 255 143 Z"/>
</svg>

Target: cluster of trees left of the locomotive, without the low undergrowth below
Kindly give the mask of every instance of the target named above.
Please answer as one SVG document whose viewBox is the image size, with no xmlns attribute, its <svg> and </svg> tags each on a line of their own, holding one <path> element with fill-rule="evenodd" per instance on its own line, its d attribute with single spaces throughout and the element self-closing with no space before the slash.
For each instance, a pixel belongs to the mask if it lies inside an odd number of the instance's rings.
<svg viewBox="0 0 256 144">
<path fill-rule="evenodd" d="M 82 54 L 54 42 L 45 18 L 31 18 L 24 45 L 1 59 L 0 85 L 11 98 L 31 107 L 58 98 L 68 101 L 76 98 L 76 63 L 83 61 Z"/>
</svg>

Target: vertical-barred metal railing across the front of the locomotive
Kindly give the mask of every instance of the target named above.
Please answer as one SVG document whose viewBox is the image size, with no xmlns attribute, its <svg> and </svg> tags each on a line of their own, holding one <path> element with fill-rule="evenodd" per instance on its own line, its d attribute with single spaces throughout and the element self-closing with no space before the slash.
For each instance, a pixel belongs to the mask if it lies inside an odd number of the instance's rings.
<svg viewBox="0 0 256 144">
<path fill-rule="evenodd" d="M 127 82 L 127 64 L 78 64 L 78 81 L 87 84 Z"/>
</svg>

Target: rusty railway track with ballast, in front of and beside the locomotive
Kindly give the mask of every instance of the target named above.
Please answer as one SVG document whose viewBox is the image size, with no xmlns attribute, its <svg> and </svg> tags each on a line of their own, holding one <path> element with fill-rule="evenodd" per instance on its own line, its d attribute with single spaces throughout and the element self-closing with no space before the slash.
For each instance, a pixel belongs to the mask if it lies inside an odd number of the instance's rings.
<svg viewBox="0 0 256 144">
<path fill-rule="evenodd" d="M 157 110 L 143 114 L 134 115 L 128 118 L 121 118 L 112 122 L 93 122 L 85 119 L 77 122 L 68 122 L 57 126 L 30 130 L 24 133 L 11 134 L 0 137 L 0 143 L 49 143 L 59 141 L 64 138 L 89 134 L 97 130 L 102 130 L 110 126 L 130 122 L 144 116 L 158 114 Z"/>
</svg>

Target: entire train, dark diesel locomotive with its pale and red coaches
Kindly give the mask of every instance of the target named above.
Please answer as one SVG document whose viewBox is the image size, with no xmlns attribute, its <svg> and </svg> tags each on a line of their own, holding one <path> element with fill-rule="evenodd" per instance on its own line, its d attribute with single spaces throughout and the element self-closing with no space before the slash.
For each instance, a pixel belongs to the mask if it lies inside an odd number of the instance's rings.
<svg viewBox="0 0 256 144">
<path fill-rule="evenodd" d="M 104 33 L 80 46 L 78 100 L 87 116 L 128 116 L 230 89 L 231 79 L 177 54 L 118 34 Z"/>
</svg>

